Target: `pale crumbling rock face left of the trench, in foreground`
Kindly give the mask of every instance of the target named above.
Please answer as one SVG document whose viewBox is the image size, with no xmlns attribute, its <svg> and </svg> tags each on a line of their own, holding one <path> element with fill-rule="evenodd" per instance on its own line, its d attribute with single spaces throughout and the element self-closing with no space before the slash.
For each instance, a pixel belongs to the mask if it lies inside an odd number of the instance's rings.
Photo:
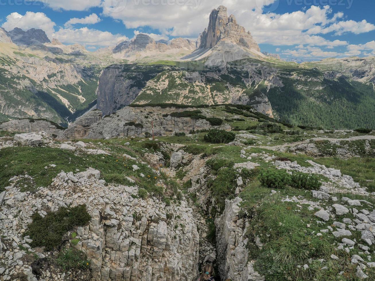
<svg viewBox="0 0 375 281">
<path fill-rule="evenodd" d="M 156 198 L 137 199 L 138 187 L 106 185 L 98 179 L 99 174 L 93 169 L 74 175 L 62 172 L 50 187 L 39 188 L 36 194 L 21 193 L 11 184 L 1 193 L 2 234 L 7 240 L 30 243 L 32 240 L 25 241 L 22 233 L 34 212 L 44 216 L 46 211 L 56 211 L 61 206 L 84 204 L 91 220 L 87 226 L 74 230 L 79 242 L 74 245 L 69 240 L 66 247 L 87 254 L 92 281 L 191 281 L 198 274 L 199 235 L 192 209 L 186 202 L 166 206 Z M 21 250 L 16 252 L 21 257 L 26 254 Z M 49 253 L 40 254 L 43 263 Z M 15 258 L 13 255 L 5 258 L 6 268 L 17 264 Z M 13 272 L 22 274 L 29 267 L 24 260 Z M 37 277 L 38 280 L 77 280 L 68 275 L 68 279 L 53 278 L 43 268 Z M 33 274 L 30 278 L 35 280 Z"/>
</svg>

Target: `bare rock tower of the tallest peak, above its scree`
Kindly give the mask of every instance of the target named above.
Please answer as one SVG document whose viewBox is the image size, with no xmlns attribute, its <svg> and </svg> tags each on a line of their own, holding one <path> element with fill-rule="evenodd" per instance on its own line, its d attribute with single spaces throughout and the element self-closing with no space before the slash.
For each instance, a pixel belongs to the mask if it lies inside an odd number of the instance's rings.
<svg viewBox="0 0 375 281">
<path fill-rule="evenodd" d="M 239 25 L 234 15 L 228 17 L 225 6 L 212 10 L 208 28 L 205 28 L 198 38 L 199 48 L 213 48 L 221 40 L 229 40 L 242 47 L 260 51 L 250 31 L 246 31 L 243 26 Z"/>
</svg>

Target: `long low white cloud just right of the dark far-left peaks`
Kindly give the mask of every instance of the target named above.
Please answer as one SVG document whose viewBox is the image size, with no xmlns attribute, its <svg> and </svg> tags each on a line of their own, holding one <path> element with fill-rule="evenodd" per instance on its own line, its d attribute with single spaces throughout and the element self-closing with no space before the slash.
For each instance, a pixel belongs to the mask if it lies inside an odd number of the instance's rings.
<svg viewBox="0 0 375 281">
<path fill-rule="evenodd" d="M 112 34 L 108 31 L 100 31 L 89 29 L 87 27 L 79 29 L 60 29 L 53 34 L 53 38 L 57 38 L 65 44 L 81 44 L 90 46 L 114 46 L 119 41 L 127 40 L 126 36 L 121 34 Z"/>
</svg>

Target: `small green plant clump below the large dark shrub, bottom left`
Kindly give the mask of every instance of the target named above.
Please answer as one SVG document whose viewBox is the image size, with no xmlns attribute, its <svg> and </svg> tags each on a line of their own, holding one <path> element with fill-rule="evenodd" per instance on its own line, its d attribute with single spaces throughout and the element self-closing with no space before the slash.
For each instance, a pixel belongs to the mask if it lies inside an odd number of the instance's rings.
<svg viewBox="0 0 375 281">
<path fill-rule="evenodd" d="M 90 261 L 87 260 L 86 254 L 73 248 L 63 249 L 58 254 L 56 263 L 61 266 L 64 271 L 70 271 L 72 269 L 89 270 L 90 268 Z"/>
</svg>

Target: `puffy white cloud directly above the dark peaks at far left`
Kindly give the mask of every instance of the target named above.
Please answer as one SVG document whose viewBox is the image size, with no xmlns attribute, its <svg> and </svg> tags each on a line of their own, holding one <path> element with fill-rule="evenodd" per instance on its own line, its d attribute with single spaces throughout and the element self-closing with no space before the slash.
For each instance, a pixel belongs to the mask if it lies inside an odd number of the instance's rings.
<svg viewBox="0 0 375 281">
<path fill-rule="evenodd" d="M 22 30 L 29 30 L 30 28 L 42 29 L 45 31 L 47 36 L 51 38 L 54 33 L 54 26 L 56 24 L 51 21 L 45 13 L 34 13 L 26 12 L 25 15 L 21 15 L 17 12 L 7 15 L 6 21 L 1 25 L 5 30 L 10 31 L 13 28 L 18 27 Z"/>
</svg>

